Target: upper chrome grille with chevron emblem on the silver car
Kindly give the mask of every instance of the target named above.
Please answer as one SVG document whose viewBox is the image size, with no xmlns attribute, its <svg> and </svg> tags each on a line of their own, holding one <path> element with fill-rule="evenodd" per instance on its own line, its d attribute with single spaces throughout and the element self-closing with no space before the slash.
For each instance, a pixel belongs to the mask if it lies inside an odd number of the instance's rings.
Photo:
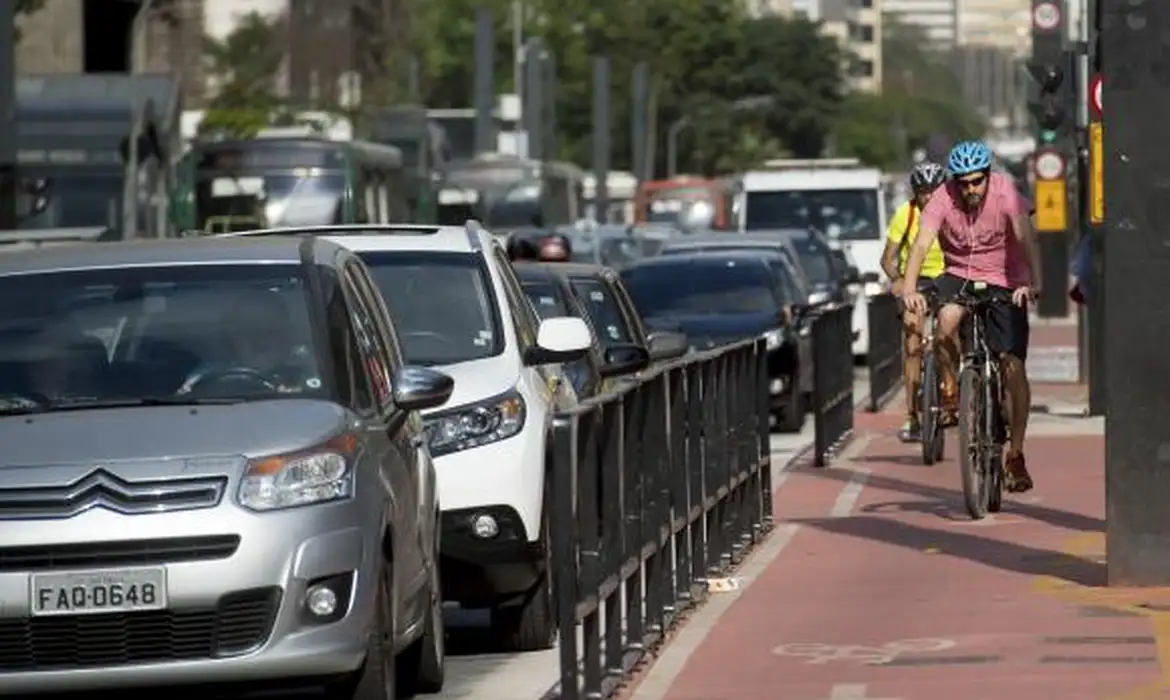
<svg viewBox="0 0 1170 700">
<path fill-rule="evenodd" d="M 125 481 L 95 469 L 67 486 L 0 489 L 0 520 L 71 517 L 91 508 L 128 515 L 214 508 L 227 478 Z"/>
</svg>

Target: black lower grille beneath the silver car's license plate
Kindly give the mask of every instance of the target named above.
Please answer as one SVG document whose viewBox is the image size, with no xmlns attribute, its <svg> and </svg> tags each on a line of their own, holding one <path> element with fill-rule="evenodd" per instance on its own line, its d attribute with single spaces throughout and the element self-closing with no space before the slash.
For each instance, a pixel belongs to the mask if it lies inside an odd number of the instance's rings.
<svg viewBox="0 0 1170 700">
<path fill-rule="evenodd" d="M 0 618 L 0 674 L 245 653 L 268 639 L 280 602 L 281 589 L 264 588 L 208 609 Z"/>
</svg>

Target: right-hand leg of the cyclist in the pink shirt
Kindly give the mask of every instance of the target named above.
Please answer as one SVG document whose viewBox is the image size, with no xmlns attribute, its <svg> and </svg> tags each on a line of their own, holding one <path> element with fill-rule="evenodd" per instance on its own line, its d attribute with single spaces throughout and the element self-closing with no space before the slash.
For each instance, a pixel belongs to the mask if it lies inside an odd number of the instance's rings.
<svg viewBox="0 0 1170 700">
<path fill-rule="evenodd" d="M 1032 488 L 1032 476 L 1024 459 L 1024 437 L 1027 433 L 1028 412 L 1032 407 L 1032 387 L 1027 380 L 1028 320 L 1027 309 L 1002 307 L 990 314 L 987 344 L 999 352 L 999 369 L 1004 377 L 1004 409 L 1011 434 L 1004 468 L 1007 490 L 1023 493 Z"/>
</svg>

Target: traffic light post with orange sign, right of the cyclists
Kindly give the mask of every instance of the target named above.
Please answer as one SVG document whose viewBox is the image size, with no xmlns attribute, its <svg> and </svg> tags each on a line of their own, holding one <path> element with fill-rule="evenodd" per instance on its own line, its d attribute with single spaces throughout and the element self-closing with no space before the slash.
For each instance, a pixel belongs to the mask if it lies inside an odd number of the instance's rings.
<svg viewBox="0 0 1170 700">
<path fill-rule="evenodd" d="M 1073 152 L 1071 107 L 1072 60 L 1065 52 L 1067 0 L 1032 0 L 1032 60 L 1028 74 L 1039 99 L 1028 107 L 1039 128 L 1035 157 L 1035 228 L 1039 234 L 1041 293 L 1037 313 L 1045 317 L 1068 314 L 1068 176 Z"/>
</svg>

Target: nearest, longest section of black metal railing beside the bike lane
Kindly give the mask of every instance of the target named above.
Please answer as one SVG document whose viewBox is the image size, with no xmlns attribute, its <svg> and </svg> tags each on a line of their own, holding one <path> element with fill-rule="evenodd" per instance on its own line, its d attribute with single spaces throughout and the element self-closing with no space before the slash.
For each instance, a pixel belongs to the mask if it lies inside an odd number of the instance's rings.
<svg viewBox="0 0 1170 700">
<path fill-rule="evenodd" d="M 611 695 L 771 527 L 768 399 L 765 345 L 745 341 L 556 416 L 562 700 Z"/>
</svg>

